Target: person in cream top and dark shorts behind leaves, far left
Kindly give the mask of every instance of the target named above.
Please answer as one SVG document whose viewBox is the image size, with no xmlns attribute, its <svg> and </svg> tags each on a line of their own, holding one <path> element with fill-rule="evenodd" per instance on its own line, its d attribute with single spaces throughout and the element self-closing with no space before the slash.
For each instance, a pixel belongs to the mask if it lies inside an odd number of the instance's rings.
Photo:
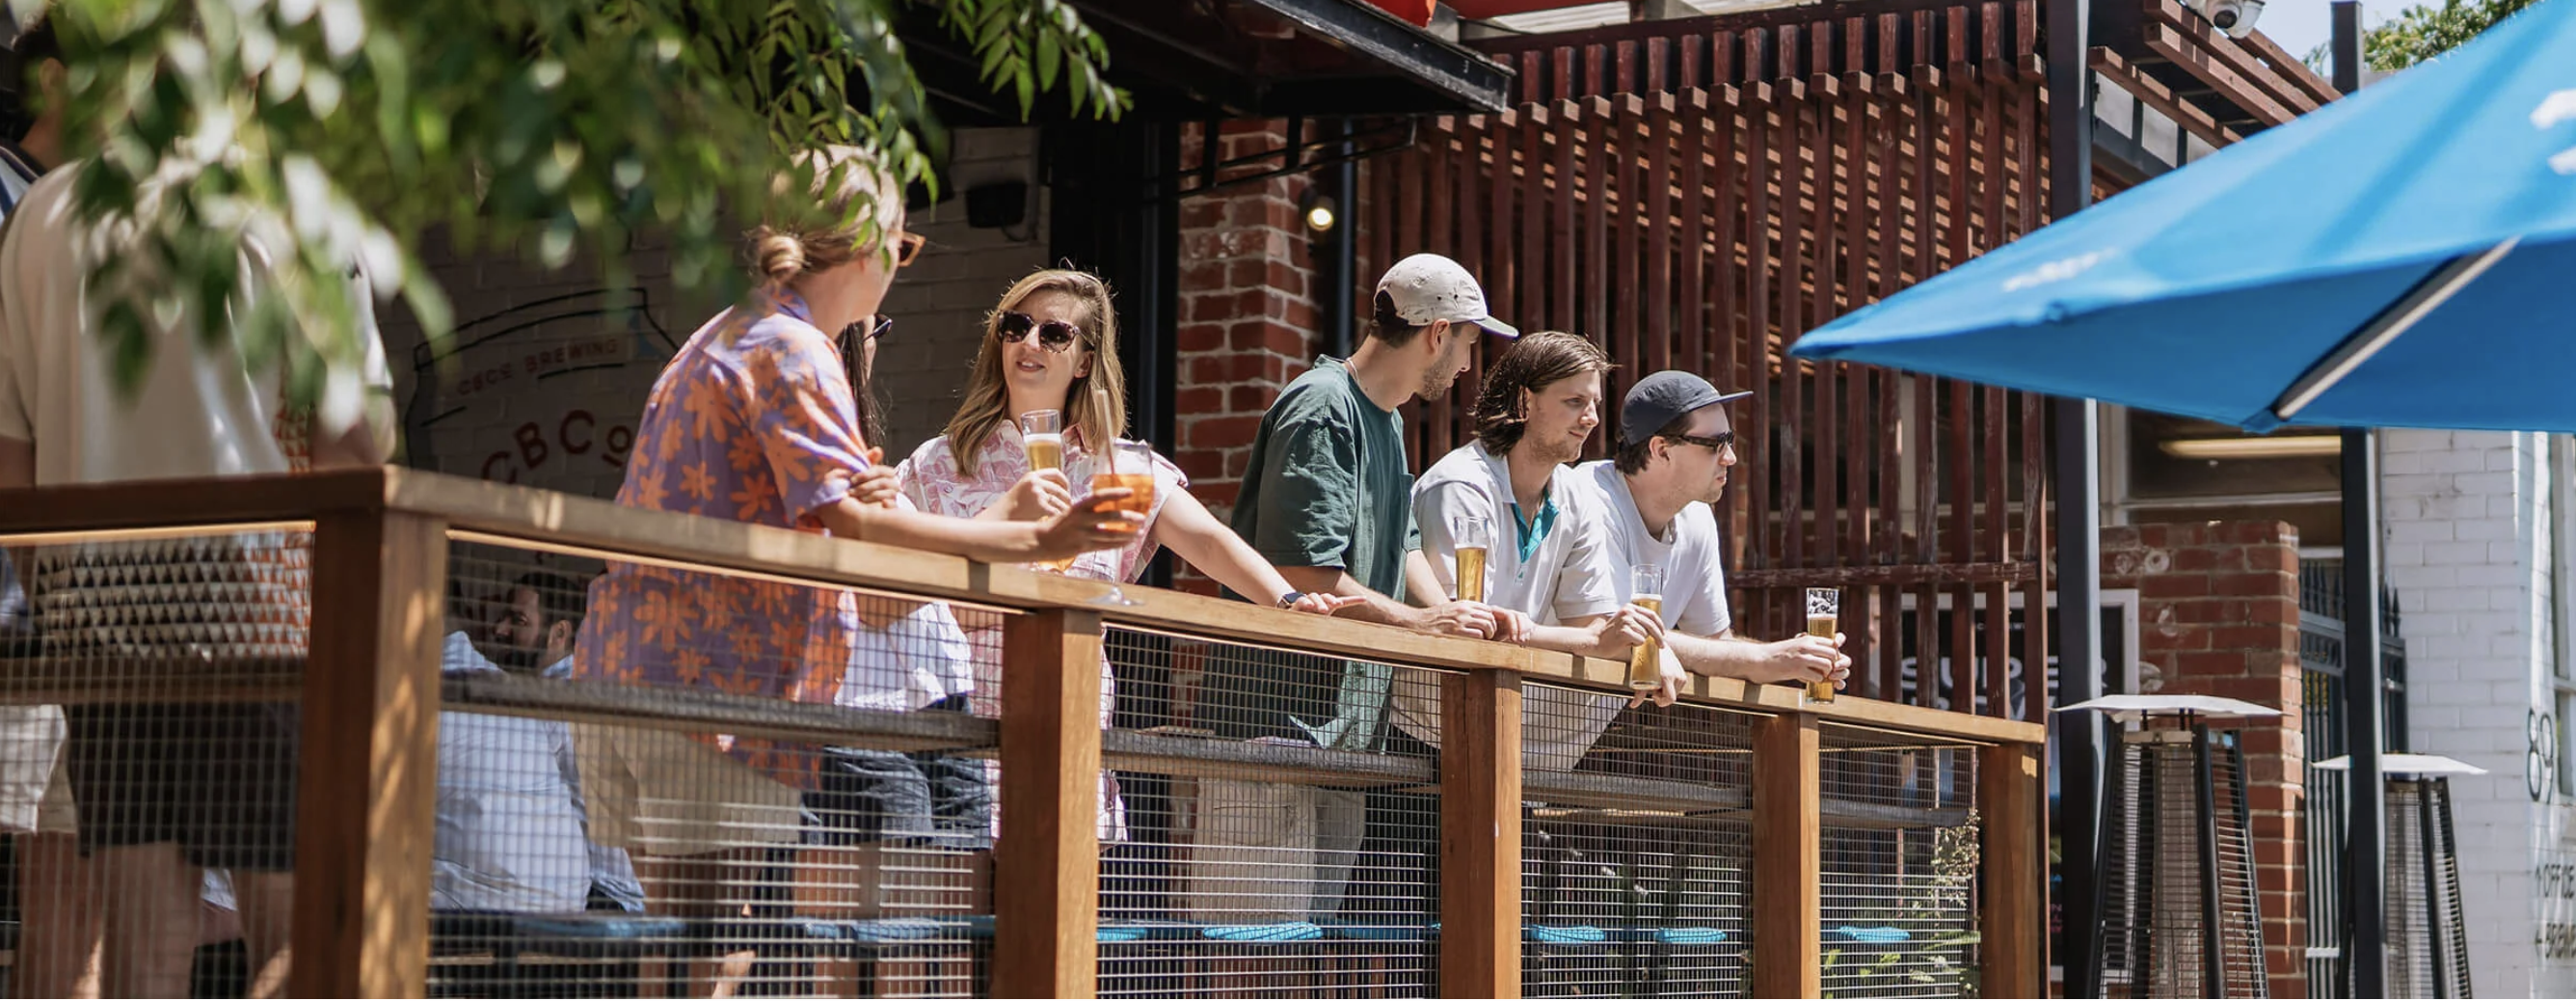
<svg viewBox="0 0 2576 1001">
<path fill-rule="evenodd" d="M 183 170 L 183 163 L 170 163 L 165 175 L 147 181 L 147 196 Z M 353 408 L 294 405 L 283 364 L 247 366 L 222 330 L 229 317 L 204 317 L 196 310 L 178 317 L 144 310 L 152 359 L 137 392 L 118 392 L 113 356 L 98 330 L 106 302 L 90 297 L 88 276 L 95 261 L 121 253 L 124 235 L 75 219 L 77 173 L 80 163 L 70 163 L 28 188 L 0 240 L 0 488 L 283 475 L 384 462 L 394 431 L 392 372 L 368 310 L 374 297 L 366 292 L 355 294 L 366 364 L 350 379 L 353 392 L 325 392 L 327 400 L 355 402 Z M 240 276 L 237 310 L 247 312 L 273 294 L 265 248 L 242 245 Z M 183 624 L 196 637 L 242 627 L 245 635 L 260 635 L 258 642 L 301 653 L 309 617 L 307 537 L 263 531 L 118 542 L 106 547 L 113 552 L 95 555 L 90 547 L 59 550 L 33 560 L 39 586 L 31 599 L 49 645 L 116 642 L 121 624 L 57 629 L 62 622 L 54 622 L 54 609 L 77 606 L 82 560 L 142 557 L 252 578 L 260 599 L 206 606 L 162 588 L 173 593 L 134 601 L 188 619 Z M 229 648 L 232 640 L 219 645 Z M 296 707 L 80 707 L 67 712 L 67 730 L 80 846 L 108 890 L 100 898 L 100 993 L 188 991 L 206 867 L 232 869 L 252 967 L 265 970 L 283 957 L 294 903 Z M 211 746 L 229 753 L 196 751 Z"/>
</svg>

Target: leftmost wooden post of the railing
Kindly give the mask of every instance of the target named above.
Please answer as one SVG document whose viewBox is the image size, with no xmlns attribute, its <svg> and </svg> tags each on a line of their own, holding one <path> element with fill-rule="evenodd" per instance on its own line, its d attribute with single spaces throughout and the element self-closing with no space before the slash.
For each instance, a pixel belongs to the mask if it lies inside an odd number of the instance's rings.
<svg viewBox="0 0 2576 1001">
<path fill-rule="evenodd" d="M 417 998 L 430 967 L 446 524 L 322 513 L 312 588 L 289 988 Z"/>
</svg>

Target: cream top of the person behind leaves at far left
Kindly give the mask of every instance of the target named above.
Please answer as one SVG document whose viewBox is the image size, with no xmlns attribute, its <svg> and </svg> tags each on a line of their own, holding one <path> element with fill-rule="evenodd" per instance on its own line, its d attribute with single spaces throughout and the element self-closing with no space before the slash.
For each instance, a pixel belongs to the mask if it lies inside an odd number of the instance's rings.
<svg viewBox="0 0 2576 1001">
<path fill-rule="evenodd" d="M 5 170 L 0 170 L 5 173 Z M 0 436 L 36 444 L 36 485 L 301 472 L 309 433 L 286 413 L 281 364 L 247 372 L 232 338 L 144 310 L 152 361 L 134 395 L 116 392 L 98 333 L 90 261 L 111 237 L 75 224 L 80 165 L 46 173 L 18 201 L 0 243 Z M 268 253 L 242 250 L 242 294 L 270 294 Z M 358 294 L 363 382 L 392 392 L 374 297 Z"/>
</svg>

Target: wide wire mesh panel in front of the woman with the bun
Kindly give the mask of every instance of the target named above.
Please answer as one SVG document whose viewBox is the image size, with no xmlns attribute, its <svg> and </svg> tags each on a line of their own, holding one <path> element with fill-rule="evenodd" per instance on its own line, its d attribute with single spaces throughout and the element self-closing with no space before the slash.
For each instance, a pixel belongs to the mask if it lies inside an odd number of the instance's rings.
<svg viewBox="0 0 2576 1001">
<path fill-rule="evenodd" d="M 438 996 L 974 996 L 999 614 L 451 552 Z"/>
</svg>

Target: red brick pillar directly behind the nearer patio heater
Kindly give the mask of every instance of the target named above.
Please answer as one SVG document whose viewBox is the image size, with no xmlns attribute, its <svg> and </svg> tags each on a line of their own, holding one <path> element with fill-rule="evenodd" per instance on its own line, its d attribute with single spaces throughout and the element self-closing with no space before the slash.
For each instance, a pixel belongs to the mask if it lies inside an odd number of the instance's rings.
<svg viewBox="0 0 2576 1001">
<path fill-rule="evenodd" d="M 2272 996 L 2308 993 L 2308 864 L 2300 808 L 2306 743 L 2298 663 L 2298 531 L 2280 521 L 2192 521 L 2102 529 L 2102 586 L 2138 588 L 2141 660 L 2151 691 L 2215 694 L 2275 707 L 2249 720 L 2246 808 L 2262 887 Z"/>
</svg>

